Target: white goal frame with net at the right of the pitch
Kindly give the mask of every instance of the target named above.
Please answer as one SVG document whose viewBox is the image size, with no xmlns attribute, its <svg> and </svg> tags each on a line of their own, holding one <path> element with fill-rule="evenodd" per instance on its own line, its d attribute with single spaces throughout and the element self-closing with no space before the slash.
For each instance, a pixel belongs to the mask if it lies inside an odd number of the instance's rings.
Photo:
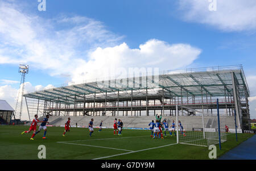
<svg viewBox="0 0 256 171">
<path fill-rule="evenodd" d="M 181 116 L 185 114 L 183 111 L 192 112 L 196 116 L 191 116 L 188 119 L 188 116 Z M 187 118 L 185 119 L 185 117 Z M 179 127 L 179 121 L 181 122 L 181 126 L 183 126 L 183 131 Z M 176 105 L 177 143 L 203 147 L 219 144 L 219 140 L 223 143 L 226 141 L 225 123 L 226 117 L 220 116 L 218 119 L 217 112 L 209 114 L 204 109 L 200 111 L 184 105 Z M 220 135 L 218 130 L 219 125 Z"/>
</svg>

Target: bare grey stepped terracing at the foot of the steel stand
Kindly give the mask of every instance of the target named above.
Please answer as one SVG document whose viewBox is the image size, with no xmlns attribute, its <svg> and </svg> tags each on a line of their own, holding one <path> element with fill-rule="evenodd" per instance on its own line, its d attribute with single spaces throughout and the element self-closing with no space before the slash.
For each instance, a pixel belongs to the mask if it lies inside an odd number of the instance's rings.
<svg viewBox="0 0 256 171">
<path fill-rule="evenodd" d="M 94 127 L 100 125 L 103 120 L 103 127 L 113 127 L 114 118 L 121 119 L 123 127 L 129 128 L 148 128 L 148 124 L 151 120 L 155 120 L 155 116 L 50 116 L 49 124 L 53 126 L 64 126 L 68 118 L 71 118 L 71 126 L 87 127 L 90 119 L 94 119 Z M 40 118 L 42 120 L 42 118 Z M 39 120 L 40 120 L 39 119 Z M 175 120 L 176 116 L 163 116 L 162 120 L 166 119 L 169 125 L 172 120 Z M 234 117 L 233 116 L 222 116 L 225 119 L 225 123 L 229 128 L 234 128 Z M 186 130 L 192 130 L 192 128 L 202 128 L 201 116 L 179 116 L 179 120 L 183 124 Z M 205 127 L 216 127 L 217 119 L 209 118 L 205 116 Z"/>
</svg>

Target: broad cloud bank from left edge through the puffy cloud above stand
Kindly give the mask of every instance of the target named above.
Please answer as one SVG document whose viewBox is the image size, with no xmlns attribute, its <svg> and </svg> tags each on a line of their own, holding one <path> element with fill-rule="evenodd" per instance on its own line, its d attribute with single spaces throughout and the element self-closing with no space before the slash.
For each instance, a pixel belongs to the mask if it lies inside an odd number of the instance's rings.
<svg viewBox="0 0 256 171">
<path fill-rule="evenodd" d="M 0 2 L 0 12 L 0 64 L 25 63 L 75 82 L 107 77 L 117 68 L 184 68 L 201 53 L 189 44 L 155 39 L 131 49 L 119 43 L 122 36 L 84 16 L 46 20 L 5 2 Z"/>
</svg>

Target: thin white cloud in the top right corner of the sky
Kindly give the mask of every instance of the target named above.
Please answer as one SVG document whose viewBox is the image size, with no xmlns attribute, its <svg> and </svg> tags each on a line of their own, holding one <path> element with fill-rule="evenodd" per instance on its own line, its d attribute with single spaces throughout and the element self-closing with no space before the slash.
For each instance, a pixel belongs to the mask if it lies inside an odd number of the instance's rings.
<svg viewBox="0 0 256 171">
<path fill-rule="evenodd" d="M 209 24 L 227 32 L 256 29 L 256 1 L 216 1 L 216 11 L 209 10 L 208 0 L 179 0 L 179 8 L 188 22 Z"/>
</svg>

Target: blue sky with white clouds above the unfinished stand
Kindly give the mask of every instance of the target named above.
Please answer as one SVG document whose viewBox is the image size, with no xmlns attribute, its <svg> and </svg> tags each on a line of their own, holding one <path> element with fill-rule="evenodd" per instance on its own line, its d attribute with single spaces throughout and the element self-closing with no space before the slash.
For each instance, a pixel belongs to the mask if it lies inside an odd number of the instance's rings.
<svg viewBox="0 0 256 171">
<path fill-rule="evenodd" d="M 160 70 L 242 64 L 251 96 L 256 97 L 256 2 L 217 0 L 216 11 L 209 11 L 209 3 L 46 0 L 46 11 L 39 11 L 36 0 L 2 1 L 0 80 L 20 81 L 20 62 L 31 67 L 26 78 L 30 90 L 100 77 L 90 72 L 105 68 L 108 61 L 111 67 L 142 65 Z M 143 64 L 143 59 L 136 62 L 148 49 L 154 51 L 146 56 L 152 65 Z M 167 54 L 174 49 L 179 50 L 178 57 Z M 106 53 L 104 65 L 101 57 Z M 179 57 L 183 60 L 176 60 Z M 18 86 L 0 81 L 0 91 Z M 6 93 L 0 98 L 7 98 Z M 250 102 L 252 118 L 256 118 L 255 101 Z"/>
</svg>

